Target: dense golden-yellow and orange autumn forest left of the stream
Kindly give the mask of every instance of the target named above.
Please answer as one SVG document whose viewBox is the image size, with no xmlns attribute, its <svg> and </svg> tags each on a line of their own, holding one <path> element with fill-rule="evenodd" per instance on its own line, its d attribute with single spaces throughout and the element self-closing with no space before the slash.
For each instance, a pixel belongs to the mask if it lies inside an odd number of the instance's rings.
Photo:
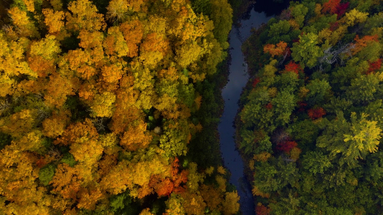
<svg viewBox="0 0 383 215">
<path fill-rule="evenodd" d="M 237 213 L 227 171 L 185 156 L 232 20 L 227 0 L 196 2 L 7 5 L 1 214 Z"/>
</svg>

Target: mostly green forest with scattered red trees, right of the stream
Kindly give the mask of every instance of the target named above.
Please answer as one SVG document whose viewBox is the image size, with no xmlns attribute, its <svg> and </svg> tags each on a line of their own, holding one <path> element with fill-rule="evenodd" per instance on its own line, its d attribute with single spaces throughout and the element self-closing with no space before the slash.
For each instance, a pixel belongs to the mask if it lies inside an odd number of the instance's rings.
<svg viewBox="0 0 383 215">
<path fill-rule="evenodd" d="M 244 45 L 237 139 L 257 215 L 383 212 L 382 5 L 290 2 Z"/>
</svg>

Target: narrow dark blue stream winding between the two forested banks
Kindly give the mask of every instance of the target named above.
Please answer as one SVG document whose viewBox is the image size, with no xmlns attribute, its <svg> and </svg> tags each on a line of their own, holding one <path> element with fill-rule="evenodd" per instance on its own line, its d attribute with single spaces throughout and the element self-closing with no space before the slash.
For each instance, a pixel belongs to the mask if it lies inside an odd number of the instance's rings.
<svg viewBox="0 0 383 215">
<path fill-rule="evenodd" d="M 241 95 L 242 88 L 248 80 L 247 65 L 241 51 L 242 42 L 250 36 L 251 28 L 258 28 L 260 24 L 266 23 L 272 16 L 267 17 L 264 12 L 259 13 L 251 10 L 248 20 L 241 20 L 242 26 L 232 27 L 229 34 L 231 65 L 229 66 L 229 82 L 222 90 L 225 101 L 224 112 L 218 125 L 220 135 L 221 153 L 224 165 L 231 172 L 230 183 L 237 187 L 241 211 L 243 215 L 255 215 L 254 200 L 249 182 L 244 175 L 244 163 L 234 142 L 233 127 L 234 117 L 238 110 L 237 101 Z"/>
</svg>

